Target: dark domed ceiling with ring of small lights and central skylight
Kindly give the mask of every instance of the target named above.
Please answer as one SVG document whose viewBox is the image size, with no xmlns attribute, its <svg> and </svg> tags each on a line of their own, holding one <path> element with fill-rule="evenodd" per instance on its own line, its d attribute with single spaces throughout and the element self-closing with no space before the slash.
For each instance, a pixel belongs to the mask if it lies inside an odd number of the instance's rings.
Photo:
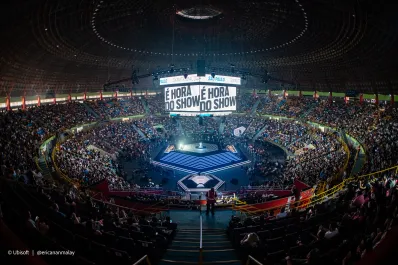
<svg viewBox="0 0 398 265">
<path fill-rule="evenodd" d="M 194 72 L 197 59 L 206 60 L 208 72 L 230 65 L 256 76 L 268 71 L 304 89 L 397 89 L 394 3 L 14 0 L 7 6 L 1 95 L 98 91 L 129 78 L 132 67 L 139 75 L 170 65 Z"/>
</svg>

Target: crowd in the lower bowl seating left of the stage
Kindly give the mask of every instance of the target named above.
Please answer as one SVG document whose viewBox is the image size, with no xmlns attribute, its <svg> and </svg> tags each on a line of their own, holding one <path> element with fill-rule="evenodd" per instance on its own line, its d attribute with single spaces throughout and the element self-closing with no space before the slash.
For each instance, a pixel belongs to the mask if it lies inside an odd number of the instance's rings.
<svg viewBox="0 0 398 265">
<path fill-rule="evenodd" d="M 140 140 L 134 123 L 134 120 L 111 122 L 75 134 L 60 145 L 56 161 L 60 170 L 85 185 L 107 179 L 111 190 L 136 188 L 120 176 L 123 174 L 118 171 L 118 155 L 141 161 L 142 165 L 148 164 L 152 148 L 160 143 L 159 140 Z M 115 149 L 117 151 L 113 153 Z"/>
</svg>

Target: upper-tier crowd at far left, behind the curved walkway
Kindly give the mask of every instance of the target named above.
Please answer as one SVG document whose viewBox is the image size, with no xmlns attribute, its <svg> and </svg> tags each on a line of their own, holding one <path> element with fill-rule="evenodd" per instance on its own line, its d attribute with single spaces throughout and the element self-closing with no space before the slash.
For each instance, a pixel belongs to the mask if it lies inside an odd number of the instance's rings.
<svg viewBox="0 0 398 265">
<path fill-rule="evenodd" d="M 0 166 L 3 176 L 32 176 L 40 144 L 62 129 L 90 122 L 94 116 L 81 103 L 50 104 L 0 113 Z"/>
</svg>

